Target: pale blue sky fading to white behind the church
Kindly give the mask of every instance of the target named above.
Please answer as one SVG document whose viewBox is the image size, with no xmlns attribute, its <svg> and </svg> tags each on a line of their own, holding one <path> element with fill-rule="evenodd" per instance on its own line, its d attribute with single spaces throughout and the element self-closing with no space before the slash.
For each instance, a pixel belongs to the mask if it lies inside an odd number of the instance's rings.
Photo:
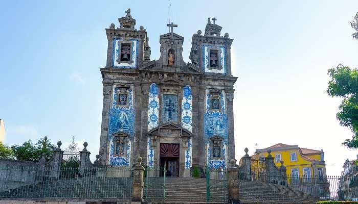
<svg viewBox="0 0 358 204">
<path fill-rule="evenodd" d="M 172 1 L 174 32 L 191 37 L 216 17 L 232 45 L 237 158 L 276 143 L 323 149 L 328 174 L 338 175 L 358 151 L 335 119 L 340 98 L 325 94 L 327 70 L 358 65 L 349 22 L 357 1 Z M 65 145 L 76 137 L 98 154 L 102 111 L 99 67 L 105 28 L 131 8 L 148 31 L 151 59 L 167 33 L 169 1 L 7 1 L 0 8 L 0 118 L 7 145 L 48 136 Z"/>
</svg>

